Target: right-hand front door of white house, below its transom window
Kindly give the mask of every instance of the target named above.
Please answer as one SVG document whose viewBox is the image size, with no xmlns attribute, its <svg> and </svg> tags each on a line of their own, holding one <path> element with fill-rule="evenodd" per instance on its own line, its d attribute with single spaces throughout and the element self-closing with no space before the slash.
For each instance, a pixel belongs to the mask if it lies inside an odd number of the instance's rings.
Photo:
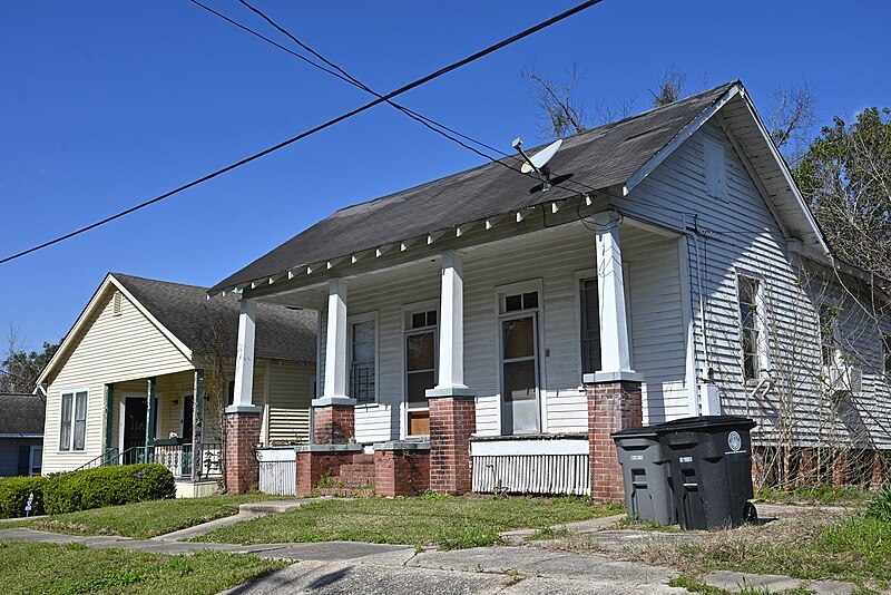
<svg viewBox="0 0 891 595">
<path fill-rule="evenodd" d="M 501 319 L 501 429 L 539 431 L 538 332 L 535 312 Z"/>
</svg>

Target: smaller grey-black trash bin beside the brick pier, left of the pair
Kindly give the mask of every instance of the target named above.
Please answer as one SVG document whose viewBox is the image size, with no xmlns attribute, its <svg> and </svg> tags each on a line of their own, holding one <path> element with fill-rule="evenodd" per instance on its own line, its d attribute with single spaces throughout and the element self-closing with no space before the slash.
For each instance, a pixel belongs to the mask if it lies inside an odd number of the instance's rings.
<svg viewBox="0 0 891 595">
<path fill-rule="evenodd" d="M 668 458 L 656 430 L 630 428 L 613 435 L 625 482 L 628 515 L 659 525 L 674 525 L 675 501 L 668 484 Z"/>
</svg>

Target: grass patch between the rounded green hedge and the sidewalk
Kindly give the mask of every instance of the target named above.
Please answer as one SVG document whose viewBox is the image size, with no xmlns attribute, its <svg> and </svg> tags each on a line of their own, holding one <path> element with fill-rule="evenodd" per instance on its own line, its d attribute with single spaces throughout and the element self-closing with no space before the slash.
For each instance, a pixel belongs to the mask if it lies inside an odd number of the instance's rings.
<svg viewBox="0 0 891 595">
<path fill-rule="evenodd" d="M 75 535 L 120 535 L 147 539 L 157 535 L 194 527 L 208 520 L 227 517 L 238 511 L 238 505 L 262 500 L 281 500 L 281 496 L 251 494 L 246 496 L 206 496 L 153 500 L 94 508 L 35 520 L 3 523 L 0 529 L 28 527 Z"/>
</svg>

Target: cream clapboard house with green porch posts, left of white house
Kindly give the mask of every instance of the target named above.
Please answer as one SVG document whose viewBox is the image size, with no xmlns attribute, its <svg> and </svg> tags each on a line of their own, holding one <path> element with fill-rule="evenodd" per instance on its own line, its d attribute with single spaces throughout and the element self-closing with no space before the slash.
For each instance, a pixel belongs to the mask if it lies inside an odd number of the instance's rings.
<svg viewBox="0 0 891 595">
<path fill-rule="evenodd" d="M 213 490 L 227 403 L 210 396 L 232 392 L 238 309 L 233 294 L 208 301 L 204 287 L 109 273 L 38 380 L 42 472 L 148 459 L 170 467 L 180 495 Z M 261 441 L 306 442 L 316 314 L 264 305 L 256 319 Z"/>
</svg>

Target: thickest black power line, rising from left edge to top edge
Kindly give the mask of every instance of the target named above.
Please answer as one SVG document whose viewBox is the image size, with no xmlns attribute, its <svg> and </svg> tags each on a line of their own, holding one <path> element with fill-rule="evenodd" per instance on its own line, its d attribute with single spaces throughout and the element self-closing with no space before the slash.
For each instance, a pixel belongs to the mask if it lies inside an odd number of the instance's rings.
<svg viewBox="0 0 891 595">
<path fill-rule="evenodd" d="M 31 247 L 31 248 L 28 248 L 28 250 L 25 250 L 22 252 L 19 252 L 18 254 L 13 254 L 11 256 L 7 256 L 3 260 L 0 260 L 0 264 L 13 261 L 16 259 L 20 259 L 21 256 L 25 256 L 25 255 L 30 254 L 32 252 L 37 252 L 38 250 L 42 250 L 42 248 L 51 246 L 53 244 L 58 244 L 59 242 L 63 242 L 66 240 L 69 240 L 71 237 L 76 236 L 76 235 L 80 235 L 82 233 L 86 233 L 86 232 L 88 232 L 90 230 L 95 230 L 96 227 L 99 227 L 99 226 L 105 225 L 107 223 L 110 223 L 110 222 L 112 222 L 115 220 L 118 220 L 120 217 L 129 215 L 130 213 L 134 213 L 136 211 L 145 208 L 145 207 L 147 207 L 149 205 L 153 205 L 153 204 L 158 203 L 158 202 L 160 202 L 160 201 L 163 201 L 165 198 L 168 198 L 168 197 L 170 197 L 170 196 L 173 196 L 175 194 L 178 194 L 178 193 L 180 193 L 183 191 L 186 191 L 188 188 L 197 186 L 198 184 L 203 184 L 204 182 L 207 182 L 207 181 L 213 179 L 213 178 L 215 178 L 217 176 L 221 176 L 221 175 L 223 175 L 223 174 L 225 174 L 227 172 L 231 172 L 231 170 L 233 170 L 233 169 L 235 169 L 237 167 L 241 167 L 241 166 L 246 165 L 246 164 L 248 164 L 251 162 L 254 162 L 254 160 L 256 160 L 256 159 L 258 159 L 261 157 L 264 157 L 264 156 L 266 156 L 266 155 L 268 155 L 271 153 L 274 153 L 274 152 L 276 152 L 276 150 L 278 150 L 281 148 L 284 148 L 284 147 L 288 146 L 288 145 L 292 145 L 292 144 L 296 143 L 297 140 L 301 140 L 303 138 L 306 138 L 307 136 L 311 136 L 311 135 L 313 135 L 315 133 L 319 133 L 320 130 L 324 130 L 325 128 L 334 126 L 335 124 L 337 124 L 340 121 L 343 121 L 343 120 L 345 120 L 347 118 L 351 118 L 351 117 L 355 116 L 356 114 L 361 114 L 362 111 L 365 111 L 365 110 L 368 110 L 368 109 L 370 109 L 370 108 L 372 108 L 372 107 L 374 107 L 374 106 L 376 106 L 379 104 L 382 104 L 382 103 L 384 103 L 384 101 L 386 101 L 389 99 L 392 99 L 392 98 L 394 98 L 394 97 L 396 97 L 399 95 L 402 95 L 402 94 L 404 94 L 407 91 L 410 91 L 411 89 L 420 87 L 421 85 L 430 82 L 431 80 L 437 79 L 437 78 L 439 78 L 439 77 L 441 77 L 443 75 L 447 75 L 447 74 L 451 72 L 452 70 L 457 70 L 457 69 L 459 69 L 459 68 L 461 68 L 463 66 L 467 66 L 470 62 L 479 60 L 480 58 L 483 58 L 483 57 L 486 57 L 486 56 L 488 56 L 488 55 L 490 55 L 490 53 L 492 53 L 495 51 L 498 51 L 499 49 L 501 49 L 503 47 L 510 46 L 511 43 L 515 43 L 515 42 L 519 41 L 520 39 L 529 37 L 530 35 L 536 33 L 536 32 L 538 32 L 538 31 L 540 31 L 542 29 L 546 29 L 546 28 L 550 27 L 551 25 L 555 25 L 555 23 L 557 23 L 557 22 L 559 22 L 559 21 L 561 21 L 564 19 L 567 19 L 567 18 L 578 13 L 578 12 L 581 12 L 582 10 L 586 10 L 586 9 L 599 3 L 600 1 L 601 0 L 587 0 L 586 2 L 577 4 L 576 7 L 572 7 L 569 10 L 566 10 L 566 11 L 564 11 L 564 12 L 561 12 L 561 13 L 555 16 L 555 17 L 551 17 L 551 18 L 545 20 L 545 21 L 539 22 L 538 25 L 529 27 L 528 29 L 525 29 L 523 31 L 520 31 L 519 33 L 516 33 L 516 35 L 513 35 L 513 36 L 511 36 L 511 37 L 509 37 L 507 39 L 503 39 L 503 40 L 501 40 L 501 41 L 499 41 L 497 43 L 493 43 L 493 45 L 491 45 L 491 46 L 489 46 L 489 47 L 487 47 L 487 48 L 484 48 L 484 49 L 482 49 L 480 51 L 477 51 L 476 53 L 472 53 L 471 56 L 468 56 L 467 58 L 462 58 L 462 59 L 460 59 L 460 60 L 458 60 L 456 62 L 452 62 L 452 64 L 450 64 L 450 65 L 448 65 L 448 66 L 446 66 L 443 68 L 440 68 L 435 72 L 431 72 L 431 74 L 429 74 L 429 75 L 427 75 L 424 77 L 421 77 L 419 79 L 413 80 L 412 82 L 409 82 L 408 85 L 403 85 L 402 87 L 398 88 L 396 90 L 391 91 L 391 92 L 389 92 L 389 94 L 386 94 L 384 96 L 378 97 L 376 99 L 374 99 L 372 101 L 369 101 L 368 104 L 365 104 L 365 105 L 363 105 L 361 107 L 358 107 L 358 108 L 355 108 L 355 109 L 353 109 L 351 111 L 347 111 L 347 113 L 345 113 L 345 114 L 343 114 L 341 116 L 337 116 L 336 118 L 330 119 L 324 124 L 315 126 L 315 127 L 313 127 L 313 128 L 311 128 L 309 130 L 305 130 L 305 131 L 303 131 L 303 133 L 301 133 L 301 134 L 298 134 L 296 136 L 293 136 L 293 137 L 288 138 L 287 140 L 283 140 L 282 143 L 278 143 L 277 145 L 273 145 L 272 147 L 268 147 L 268 148 L 266 148 L 264 150 L 261 150 L 260 153 L 255 153 L 254 155 L 251 155 L 249 157 L 245 157 L 244 159 L 235 162 L 234 164 L 227 165 L 227 166 L 225 166 L 225 167 L 223 167 L 221 169 L 217 169 L 216 172 L 213 172 L 210 174 L 202 176 L 198 179 L 189 182 L 188 184 L 184 184 L 184 185 L 182 185 L 182 186 L 179 186 L 179 187 L 177 187 L 177 188 L 175 188 L 175 189 L 173 189 L 170 192 L 161 194 L 160 196 L 156 196 L 155 198 L 151 198 L 149 201 L 145 201 L 143 203 L 139 203 L 136 206 L 127 208 L 126 211 L 121 211 L 120 213 L 117 213 L 115 215 L 106 217 L 106 218 L 104 218 L 104 220 L 101 220 L 99 222 L 96 222 L 96 223 L 92 223 L 90 225 L 87 225 L 86 227 L 81 227 L 81 228 L 79 228 L 77 231 L 74 231 L 71 233 L 65 234 L 65 235 L 59 236 L 59 237 L 57 237 L 55 240 L 50 240 L 49 242 L 43 242 L 40 245 L 37 245 L 37 246 Z"/>
</svg>

